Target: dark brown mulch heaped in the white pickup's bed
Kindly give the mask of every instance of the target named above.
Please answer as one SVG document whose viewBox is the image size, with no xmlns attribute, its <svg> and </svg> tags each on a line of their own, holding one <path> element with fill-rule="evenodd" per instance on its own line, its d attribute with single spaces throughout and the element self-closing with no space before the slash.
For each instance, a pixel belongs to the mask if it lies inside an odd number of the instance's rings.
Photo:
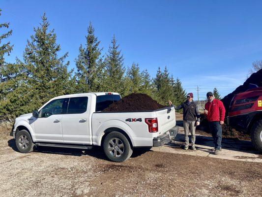
<svg viewBox="0 0 262 197">
<path fill-rule="evenodd" d="M 103 112 L 152 111 L 166 107 L 146 94 L 133 93 L 109 105 Z"/>
</svg>

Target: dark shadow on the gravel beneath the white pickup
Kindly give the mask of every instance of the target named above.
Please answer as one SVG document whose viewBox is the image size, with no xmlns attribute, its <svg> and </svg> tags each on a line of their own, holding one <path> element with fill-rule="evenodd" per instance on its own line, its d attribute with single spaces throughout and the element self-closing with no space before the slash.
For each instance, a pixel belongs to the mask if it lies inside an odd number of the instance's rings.
<svg viewBox="0 0 262 197">
<path fill-rule="evenodd" d="M 19 152 L 15 144 L 15 139 L 8 140 L 8 146 L 11 147 L 14 151 Z M 141 156 L 147 151 L 150 150 L 148 148 L 134 149 L 131 158 Z M 35 148 L 34 152 L 45 153 L 45 154 L 71 155 L 71 156 L 78 156 L 78 157 L 82 155 L 88 155 L 97 159 L 108 160 L 103 152 L 103 148 L 100 146 L 94 146 L 90 150 L 38 146 L 37 148 Z"/>
</svg>

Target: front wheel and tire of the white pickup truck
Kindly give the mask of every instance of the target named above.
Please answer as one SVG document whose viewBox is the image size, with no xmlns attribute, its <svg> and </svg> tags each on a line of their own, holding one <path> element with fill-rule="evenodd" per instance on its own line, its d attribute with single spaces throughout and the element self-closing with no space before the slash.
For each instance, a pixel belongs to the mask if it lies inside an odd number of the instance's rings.
<svg viewBox="0 0 262 197">
<path fill-rule="evenodd" d="M 15 137 L 15 144 L 18 151 L 21 153 L 30 153 L 35 146 L 27 130 L 18 131 Z"/>
</svg>

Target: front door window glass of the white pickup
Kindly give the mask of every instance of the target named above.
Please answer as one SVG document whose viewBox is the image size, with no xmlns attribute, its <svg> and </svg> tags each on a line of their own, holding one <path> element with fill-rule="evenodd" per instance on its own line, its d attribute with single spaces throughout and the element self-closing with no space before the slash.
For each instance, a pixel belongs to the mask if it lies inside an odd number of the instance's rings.
<svg viewBox="0 0 262 197">
<path fill-rule="evenodd" d="M 39 112 L 39 118 L 47 118 L 51 115 L 62 114 L 62 106 L 65 99 L 52 100 Z"/>
</svg>

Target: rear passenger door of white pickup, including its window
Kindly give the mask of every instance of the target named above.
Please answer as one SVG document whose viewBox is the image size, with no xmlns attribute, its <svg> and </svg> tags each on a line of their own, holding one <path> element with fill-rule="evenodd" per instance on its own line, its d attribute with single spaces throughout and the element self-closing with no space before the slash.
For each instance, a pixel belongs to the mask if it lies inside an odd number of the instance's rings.
<svg viewBox="0 0 262 197">
<path fill-rule="evenodd" d="M 64 143 L 92 144 L 89 131 L 88 97 L 71 97 L 67 113 L 63 114 L 62 130 Z"/>
</svg>

